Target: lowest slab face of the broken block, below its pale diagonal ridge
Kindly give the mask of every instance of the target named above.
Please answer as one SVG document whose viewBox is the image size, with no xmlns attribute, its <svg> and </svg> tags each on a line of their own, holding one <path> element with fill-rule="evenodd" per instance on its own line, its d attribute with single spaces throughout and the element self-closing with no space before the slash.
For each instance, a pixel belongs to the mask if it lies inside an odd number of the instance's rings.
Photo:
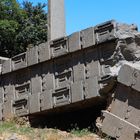
<svg viewBox="0 0 140 140">
<path fill-rule="evenodd" d="M 139 127 L 136 127 L 108 111 L 104 111 L 103 116 L 105 117 L 102 125 L 102 131 L 104 133 L 116 138 L 117 140 L 135 140 L 136 134 L 140 131 Z"/>
</svg>

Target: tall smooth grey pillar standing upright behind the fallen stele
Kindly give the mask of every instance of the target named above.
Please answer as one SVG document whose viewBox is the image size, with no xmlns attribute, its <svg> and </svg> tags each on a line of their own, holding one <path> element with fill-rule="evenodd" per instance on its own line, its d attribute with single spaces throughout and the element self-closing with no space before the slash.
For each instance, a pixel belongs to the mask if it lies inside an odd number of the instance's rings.
<svg viewBox="0 0 140 140">
<path fill-rule="evenodd" d="M 48 40 L 65 35 L 64 0 L 48 0 Z"/>
</svg>

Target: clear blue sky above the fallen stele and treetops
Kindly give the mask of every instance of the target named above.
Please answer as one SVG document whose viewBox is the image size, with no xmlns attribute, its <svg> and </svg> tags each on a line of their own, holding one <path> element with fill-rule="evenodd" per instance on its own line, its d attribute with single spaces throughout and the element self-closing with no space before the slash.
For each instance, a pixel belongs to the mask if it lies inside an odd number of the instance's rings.
<svg viewBox="0 0 140 140">
<path fill-rule="evenodd" d="M 23 0 L 18 0 L 22 3 Z M 47 0 L 28 0 L 34 4 Z M 115 19 L 140 30 L 140 0 L 65 0 L 67 34 Z"/>
</svg>

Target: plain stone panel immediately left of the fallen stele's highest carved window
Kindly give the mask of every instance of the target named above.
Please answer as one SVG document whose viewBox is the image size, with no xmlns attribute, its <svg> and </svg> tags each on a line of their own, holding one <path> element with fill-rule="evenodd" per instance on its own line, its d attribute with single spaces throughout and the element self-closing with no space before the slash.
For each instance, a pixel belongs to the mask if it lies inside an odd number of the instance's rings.
<svg viewBox="0 0 140 140">
<path fill-rule="evenodd" d="M 87 48 L 87 47 L 91 47 L 95 45 L 96 37 L 95 37 L 93 27 L 82 30 L 80 33 L 81 33 L 81 39 L 82 39 L 82 48 Z"/>
</svg>

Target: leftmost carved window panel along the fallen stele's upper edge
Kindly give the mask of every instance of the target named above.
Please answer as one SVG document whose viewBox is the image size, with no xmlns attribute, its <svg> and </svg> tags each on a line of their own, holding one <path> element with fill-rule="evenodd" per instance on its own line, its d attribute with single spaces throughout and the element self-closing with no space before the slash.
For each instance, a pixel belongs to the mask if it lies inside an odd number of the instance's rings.
<svg viewBox="0 0 140 140">
<path fill-rule="evenodd" d="M 18 70 L 27 67 L 27 54 L 22 53 L 12 57 L 12 70 Z"/>
</svg>

